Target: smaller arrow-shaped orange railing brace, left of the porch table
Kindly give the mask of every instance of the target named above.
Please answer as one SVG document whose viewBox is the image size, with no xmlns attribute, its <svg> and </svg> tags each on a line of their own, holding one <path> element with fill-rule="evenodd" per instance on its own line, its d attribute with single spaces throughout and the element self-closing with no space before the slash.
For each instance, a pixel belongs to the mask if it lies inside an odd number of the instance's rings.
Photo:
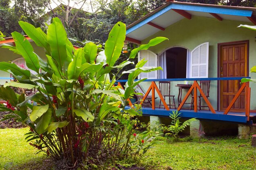
<svg viewBox="0 0 256 170">
<path fill-rule="evenodd" d="M 151 82 L 151 85 L 148 88 L 148 91 L 145 93 L 144 97 L 142 98 L 142 101 L 140 102 L 140 104 L 143 103 L 143 101 L 146 99 L 146 97 L 148 97 L 148 94 L 150 93 L 150 91 L 152 91 L 152 110 L 155 110 L 155 91 L 157 91 L 157 94 L 160 97 L 160 100 L 163 102 L 164 104 L 164 108 L 166 110 L 170 110 L 164 100 L 164 97 L 162 96 L 162 94 L 159 91 L 159 88 L 157 87 L 157 85 L 155 84 L 155 82 Z"/>
</svg>

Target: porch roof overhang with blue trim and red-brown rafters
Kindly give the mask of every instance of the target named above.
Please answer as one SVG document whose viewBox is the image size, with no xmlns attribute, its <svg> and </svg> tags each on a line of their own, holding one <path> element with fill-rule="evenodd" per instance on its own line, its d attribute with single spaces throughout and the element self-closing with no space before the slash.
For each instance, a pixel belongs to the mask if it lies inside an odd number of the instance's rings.
<svg viewBox="0 0 256 170">
<path fill-rule="evenodd" d="M 141 40 L 148 38 L 150 35 L 161 30 L 164 31 L 166 27 L 184 18 L 190 20 L 192 16 L 216 18 L 219 21 L 252 22 L 256 25 L 256 8 L 174 1 L 167 2 L 162 7 L 127 26 L 126 40 L 141 44 Z"/>
</svg>

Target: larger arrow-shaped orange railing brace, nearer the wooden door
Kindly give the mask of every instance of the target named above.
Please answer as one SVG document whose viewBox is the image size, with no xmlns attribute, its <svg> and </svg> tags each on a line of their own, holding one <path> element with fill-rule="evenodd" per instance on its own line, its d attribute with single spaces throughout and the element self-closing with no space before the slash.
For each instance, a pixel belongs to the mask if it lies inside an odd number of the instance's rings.
<svg viewBox="0 0 256 170">
<path fill-rule="evenodd" d="M 207 104 L 207 106 L 209 107 L 209 109 L 211 110 L 212 113 L 216 113 L 216 111 L 213 109 L 213 106 L 211 106 L 211 103 L 209 102 L 208 98 L 206 97 L 206 95 L 204 94 L 204 92 L 202 91 L 201 87 L 199 86 L 197 81 L 194 81 L 194 83 L 192 84 L 191 88 L 189 89 L 188 93 L 186 93 L 184 99 L 182 100 L 180 106 L 178 107 L 178 111 L 180 111 L 180 109 L 182 108 L 182 106 L 185 104 L 186 100 L 188 99 L 189 95 L 191 94 L 192 90 L 194 90 L 194 112 L 197 112 L 197 90 L 199 91 L 199 93 L 201 94 L 201 96 L 204 98 L 205 103 Z"/>
</svg>

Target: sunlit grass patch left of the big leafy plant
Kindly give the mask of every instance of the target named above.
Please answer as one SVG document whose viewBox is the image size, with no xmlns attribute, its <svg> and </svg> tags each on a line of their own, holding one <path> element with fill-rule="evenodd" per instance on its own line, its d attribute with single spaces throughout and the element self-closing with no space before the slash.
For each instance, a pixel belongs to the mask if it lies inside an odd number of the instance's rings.
<svg viewBox="0 0 256 170">
<path fill-rule="evenodd" d="M 26 142 L 24 134 L 28 131 L 29 128 L 0 129 L 0 170 L 44 158 Z"/>
</svg>

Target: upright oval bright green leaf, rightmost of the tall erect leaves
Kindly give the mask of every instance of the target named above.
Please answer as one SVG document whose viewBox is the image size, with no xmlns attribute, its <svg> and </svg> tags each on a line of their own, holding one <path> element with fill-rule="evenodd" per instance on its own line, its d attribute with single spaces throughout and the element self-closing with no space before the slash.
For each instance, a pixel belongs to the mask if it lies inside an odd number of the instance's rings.
<svg viewBox="0 0 256 170">
<path fill-rule="evenodd" d="M 126 25 L 122 22 L 117 22 L 108 35 L 108 40 L 105 44 L 105 55 L 108 66 L 114 66 L 119 58 L 124 46 L 126 34 Z"/>
</svg>

